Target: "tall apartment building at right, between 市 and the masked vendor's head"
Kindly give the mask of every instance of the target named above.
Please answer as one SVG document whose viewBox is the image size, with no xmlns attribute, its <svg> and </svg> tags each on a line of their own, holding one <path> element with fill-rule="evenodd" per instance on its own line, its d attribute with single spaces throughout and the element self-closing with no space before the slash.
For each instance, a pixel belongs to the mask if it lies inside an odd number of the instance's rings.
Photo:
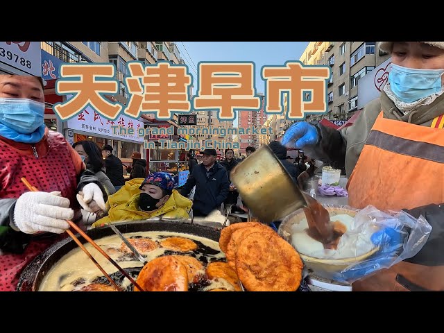
<svg viewBox="0 0 444 333">
<path fill-rule="evenodd" d="M 305 65 L 328 65 L 328 113 L 309 115 L 307 120 L 346 121 L 358 110 L 359 79 L 381 65 L 389 55 L 377 42 L 310 42 L 300 57 Z"/>
</svg>

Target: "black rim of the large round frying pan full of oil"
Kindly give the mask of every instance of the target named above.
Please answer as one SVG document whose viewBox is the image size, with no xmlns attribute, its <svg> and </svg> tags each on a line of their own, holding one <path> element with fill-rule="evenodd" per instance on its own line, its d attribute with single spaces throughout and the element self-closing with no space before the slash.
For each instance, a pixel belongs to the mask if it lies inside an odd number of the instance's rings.
<svg viewBox="0 0 444 333">
<path fill-rule="evenodd" d="M 114 223 L 114 225 L 123 234 L 128 232 L 145 231 L 181 232 L 185 234 L 194 234 L 195 236 L 199 237 L 205 237 L 207 239 L 212 239 L 213 241 L 219 241 L 219 237 L 221 236 L 221 229 L 176 221 L 123 222 Z M 100 239 L 114 234 L 112 229 L 109 227 L 88 230 L 86 233 L 92 239 Z M 76 237 L 78 237 L 82 243 L 87 242 L 79 234 L 76 234 Z M 17 284 L 17 291 L 37 291 L 40 287 L 42 279 L 52 268 L 52 266 L 56 264 L 61 257 L 76 247 L 77 244 L 71 238 L 66 238 L 63 241 L 53 244 L 53 246 L 35 257 L 35 259 L 28 264 L 28 266 L 26 266 L 22 272 L 22 275 L 20 275 L 19 283 Z"/>
</svg>

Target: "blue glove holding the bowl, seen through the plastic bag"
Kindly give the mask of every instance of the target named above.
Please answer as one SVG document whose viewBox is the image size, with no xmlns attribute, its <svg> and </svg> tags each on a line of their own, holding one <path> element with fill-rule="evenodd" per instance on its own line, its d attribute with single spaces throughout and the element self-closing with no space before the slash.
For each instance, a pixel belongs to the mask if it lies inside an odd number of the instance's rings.
<svg viewBox="0 0 444 333">
<path fill-rule="evenodd" d="M 384 228 L 375 232 L 370 239 L 373 244 L 379 246 L 378 252 L 365 262 L 356 264 L 343 273 L 337 273 L 333 280 L 355 282 L 379 269 L 388 268 L 402 251 L 406 234 L 407 232 L 403 230 L 393 228 Z"/>
</svg>

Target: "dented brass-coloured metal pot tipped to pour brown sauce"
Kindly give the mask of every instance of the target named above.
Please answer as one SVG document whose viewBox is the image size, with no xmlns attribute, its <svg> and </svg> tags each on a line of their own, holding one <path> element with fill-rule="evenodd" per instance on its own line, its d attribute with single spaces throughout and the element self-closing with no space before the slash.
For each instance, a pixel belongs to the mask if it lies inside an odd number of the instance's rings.
<svg viewBox="0 0 444 333">
<path fill-rule="evenodd" d="M 307 199 L 268 146 L 237 164 L 230 179 L 253 216 L 263 223 L 279 221 L 307 207 Z"/>
</svg>

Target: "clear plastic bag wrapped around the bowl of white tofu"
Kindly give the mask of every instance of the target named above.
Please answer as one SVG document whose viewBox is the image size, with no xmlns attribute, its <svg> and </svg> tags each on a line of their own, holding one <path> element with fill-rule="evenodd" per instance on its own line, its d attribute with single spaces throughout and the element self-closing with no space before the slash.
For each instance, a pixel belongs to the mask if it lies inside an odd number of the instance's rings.
<svg viewBox="0 0 444 333">
<path fill-rule="evenodd" d="M 307 238 L 302 210 L 287 216 L 279 233 L 298 250 L 315 275 L 338 282 L 355 282 L 415 256 L 432 230 L 423 216 L 415 219 L 406 212 L 382 212 L 371 205 L 363 210 L 324 207 L 329 210 L 332 221 L 338 220 L 347 226 L 336 250 L 324 249 L 319 242 Z M 354 219 L 341 220 L 343 215 L 354 216 Z"/>
</svg>

